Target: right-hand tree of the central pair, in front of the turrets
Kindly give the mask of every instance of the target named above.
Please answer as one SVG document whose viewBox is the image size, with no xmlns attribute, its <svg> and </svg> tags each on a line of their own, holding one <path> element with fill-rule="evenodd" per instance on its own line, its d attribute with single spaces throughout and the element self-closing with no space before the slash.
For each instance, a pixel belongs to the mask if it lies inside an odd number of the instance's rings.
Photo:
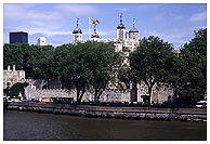
<svg viewBox="0 0 210 144">
<path fill-rule="evenodd" d="M 115 83 L 123 62 L 121 52 L 116 52 L 113 43 L 89 42 L 87 62 L 92 71 L 91 86 L 94 103 L 97 103 L 108 82 Z"/>
</svg>

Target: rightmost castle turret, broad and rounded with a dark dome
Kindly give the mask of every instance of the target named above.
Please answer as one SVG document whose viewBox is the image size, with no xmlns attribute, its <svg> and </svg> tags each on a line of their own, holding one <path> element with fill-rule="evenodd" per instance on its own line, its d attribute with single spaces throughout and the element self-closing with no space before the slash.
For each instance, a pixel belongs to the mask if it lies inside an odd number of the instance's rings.
<svg viewBox="0 0 210 144">
<path fill-rule="evenodd" d="M 134 48 L 136 48 L 140 44 L 140 41 L 139 41 L 139 30 L 134 26 L 134 21 L 135 18 L 133 18 L 133 27 L 129 30 L 129 40 L 131 44 L 134 45 Z"/>
</svg>

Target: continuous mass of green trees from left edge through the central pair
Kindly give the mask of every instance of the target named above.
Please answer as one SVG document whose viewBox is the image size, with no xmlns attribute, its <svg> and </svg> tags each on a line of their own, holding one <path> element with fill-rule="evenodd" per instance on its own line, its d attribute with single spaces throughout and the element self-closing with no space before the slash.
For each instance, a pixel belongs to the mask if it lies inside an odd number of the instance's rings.
<svg viewBox="0 0 210 144">
<path fill-rule="evenodd" d="M 63 87 L 77 90 L 77 101 L 91 89 L 99 101 L 109 81 L 116 81 L 122 55 L 113 43 L 86 42 L 52 45 L 25 43 L 4 44 L 4 68 L 16 65 L 26 70 L 26 78 L 51 80 L 60 78 Z"/>
</svg>

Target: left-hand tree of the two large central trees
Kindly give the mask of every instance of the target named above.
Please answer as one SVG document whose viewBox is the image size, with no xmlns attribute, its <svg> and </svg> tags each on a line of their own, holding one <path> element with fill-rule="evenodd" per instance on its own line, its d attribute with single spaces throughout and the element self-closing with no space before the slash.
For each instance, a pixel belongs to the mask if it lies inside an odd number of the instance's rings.
<svg viewBox="0 0 210 144">
<path fill-rule="evenodd" d="M 76 88 L 77 102 L 80 103 L 90 86 L 91 70 L 88 67 L 84 43 L 63 44 L 56 48 L 56 60 L 58 62 L 57 74 L 62 84 L 71 90 Z"/>
</svg>

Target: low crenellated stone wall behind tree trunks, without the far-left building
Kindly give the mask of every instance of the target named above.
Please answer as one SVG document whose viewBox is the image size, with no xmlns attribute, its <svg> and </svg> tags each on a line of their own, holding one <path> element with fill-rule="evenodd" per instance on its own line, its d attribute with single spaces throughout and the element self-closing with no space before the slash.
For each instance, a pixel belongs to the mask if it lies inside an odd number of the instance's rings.
<svg viewBox="0 0 210 144">
<path fill-rule="evenodd" d="M 25 88 L 25 96 L 27 100 L 39 100 L 42 97 L 73 97 L 74 101 L 77 101 L 76 90 L 68 91 L 66 89 L 61 89 L 61 83 L 51 81 L 49 87 L 53 89 L 41 89 L 45 84 L 41 80 L 26 80 L 30 84 Z M 137 101 L 143 103 L 142 95 L 148 95 L 147 87 L 145 84 L 137 86 Z M 154 104 L 162 104 L 168 102 L 174 95 L 172 88 L 161 87 L 157 89 L 157 86 L 153 88 L 150 102 Z M 94 94 L 91 92 L 86 92 L 82 97 L 82 102 L 92 102 L 94 100 Z M 131 90 L 121 92 L 118 89 L 106 89 L 100 102 L 131 102 Z"/>
</svg>

